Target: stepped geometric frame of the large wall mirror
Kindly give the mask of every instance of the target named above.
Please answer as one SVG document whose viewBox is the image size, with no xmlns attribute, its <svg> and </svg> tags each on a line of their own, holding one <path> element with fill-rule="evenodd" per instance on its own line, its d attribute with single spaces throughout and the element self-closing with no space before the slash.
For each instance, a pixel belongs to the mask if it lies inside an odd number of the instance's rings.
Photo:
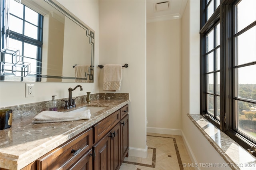
<svg viewBox="0 0 256 170">
<path fill-rule="evenodd" d="M 37 82 L 84 82 L 84 83 L 93 83 L 94 82 L 94 30 L 92 30 L 89 26 L 87 26 L 82 20 L 80 20 L 78 17 L 76 17 L 72 12 L 70 12 L 68 9 L 66 9 L 64 6 L 62 6 L 59 2 L 56 0 L 43 0 L 44 2 L 48 3 L 50 6 L 58 10 L 60 13 L 64 14 L 67 18 L 72 20 L 75 24 L 86 30 L 86 36 L 89 38 L 89 44 L 92 45 L 91 50 L 91 62 L 90 62 L 90 73 L 87 77 L 89 77 L 89 80 L 86 78 L 78 78 L 78 77 L 65 77 L 65 76 L 52 76 L 52 75 L 35 75 L 34 78 Z M 26 1 L 22 1 L 22 4 L 28 6 L 26 4 Z M 39 5 L 38 5 L 39 6 Z M 42 7 L 43 8 L 43 7 Z M 32 8 L 33 9 L 33 8 Z M 75 67 L 75 65 L 73 66 Z M 7 77 L 21 77 L 21 76 L 9 76 L 9 75 L 1 75 L 1 76 L 7 76 Z M 32 76 L 30 76 L 32 77 Z M 56 81 L 55 79 L 61 79 Z M 9 81 L 9 80 L 0 80 L 0 81 Z M 12 80 L 10 80 L 12 81 Z M 19 80 L 14 80 L 19 81 Z M 34 81 L 33 81 L 34 82 Z"/>
</svg>

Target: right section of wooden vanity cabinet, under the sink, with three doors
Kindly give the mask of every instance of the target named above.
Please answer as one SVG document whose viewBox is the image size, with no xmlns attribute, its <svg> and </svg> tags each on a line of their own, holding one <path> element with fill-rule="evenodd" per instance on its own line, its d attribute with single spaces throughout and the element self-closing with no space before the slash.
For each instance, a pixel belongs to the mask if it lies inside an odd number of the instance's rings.
<svg viewBox="0 0 256 170">
<path fill-rule="evenodd" d="M 128 105 L 126 105 L 93 126 L 96 142 L 93 146 L 94 170 L 118 170 L 124 157 L 128 156 L 128 113 Z M 102 134 L 105 136 L 100 139 Z"/>
</svg>

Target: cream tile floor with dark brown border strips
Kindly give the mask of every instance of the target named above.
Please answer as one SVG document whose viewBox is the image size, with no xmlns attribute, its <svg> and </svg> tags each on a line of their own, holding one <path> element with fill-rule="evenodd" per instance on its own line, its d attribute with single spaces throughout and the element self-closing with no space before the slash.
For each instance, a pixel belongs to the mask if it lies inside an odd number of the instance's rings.
<svg viewBox="0 0 256 170">
<path fill-rule="evenodd" d="M 120 170 L 194 170 L 182 136 L 147 133 L 148 156 L 128 156 Z"/>
</svg>

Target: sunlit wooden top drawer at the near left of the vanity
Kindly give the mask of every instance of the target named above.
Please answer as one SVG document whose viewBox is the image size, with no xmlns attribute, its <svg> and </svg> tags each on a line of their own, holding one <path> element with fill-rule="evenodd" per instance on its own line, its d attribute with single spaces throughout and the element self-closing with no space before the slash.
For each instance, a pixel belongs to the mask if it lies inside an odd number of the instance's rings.
<svg viewBox="0 0 256 170">
<path fill-rule="evenodd" d="M 37 160 L 38 170 L 67 169 L 92 148 L 92 128 L 78 134 Z M 75 152 L 80 150 L 79 152 Z"/>
</svg>

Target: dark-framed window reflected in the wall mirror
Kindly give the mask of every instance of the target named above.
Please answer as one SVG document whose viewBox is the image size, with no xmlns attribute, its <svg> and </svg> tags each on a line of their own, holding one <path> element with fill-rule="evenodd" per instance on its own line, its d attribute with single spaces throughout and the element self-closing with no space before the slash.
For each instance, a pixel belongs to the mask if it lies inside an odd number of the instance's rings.
<svg viewBox="0 0 256 170">
<path fill-rule="evenodd" d="M 41 73 L 37 68 L 42 61 L 43 16 L 14 0 L 10 0 L 9 13 L 9 47 L 1 54 L 1 75 L 36 81 L 32 77 Z M 8 78 L 13 79 L 1 76 L 1 80 Z"/>
</svg>

